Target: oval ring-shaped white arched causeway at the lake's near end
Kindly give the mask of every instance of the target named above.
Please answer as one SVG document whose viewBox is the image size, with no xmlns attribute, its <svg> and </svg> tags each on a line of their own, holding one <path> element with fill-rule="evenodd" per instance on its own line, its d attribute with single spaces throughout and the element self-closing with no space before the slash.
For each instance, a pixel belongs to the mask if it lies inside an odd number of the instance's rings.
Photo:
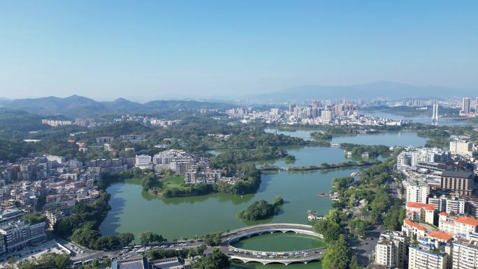
<svg viewBox="0 0 478 269">
<path fill-rule="evenodd" d="M 239 260 L 243 263 L 255 261 L 266 265 L 268 263 L 308 263 L 310 261 L 319 261 L 324 253 L 322 248 L 307 249 L 299 252 L 258 252 L 249 249 L 240 249 L 233 247 L 231 243 L 237 242 L 242 238 L 250 238 L 252 235 L 262 235 L 264 233 L 275 232 L 294 232 L 304 235 L 312 235 L 323 239 L 320 233 L 315 233 L 312 226 L 304 224 L 260 224 L 239 228 L 222 234 L 221 252 L 226 254 L 231 260 Z"/>
</svg>

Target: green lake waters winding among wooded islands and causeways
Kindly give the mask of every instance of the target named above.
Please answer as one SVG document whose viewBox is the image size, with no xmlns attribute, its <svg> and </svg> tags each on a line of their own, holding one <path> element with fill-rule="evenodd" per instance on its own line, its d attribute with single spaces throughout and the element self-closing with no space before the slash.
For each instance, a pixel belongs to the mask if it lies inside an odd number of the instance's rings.
<svg viewBox="0 0 478 269">
<path fill-rule="evenodd" d="M 282 132 L 291 136 L 301 136 L 303 131 Z M 310 133 L 310 131 L 309 131 Z M 393 132 L 352 136 L 347 142 L 362 141 L 367 145 L 382 143 L 384 145 L 423 145 L 425 140 L 412 132 Z M 347 160 L 343 150 L 337 147 L 286 147 L 290 154 L 296 157 L 296 163 L 289 165 L 302 166 L 324 162 L 336 163 Z M 282 160 L 269 162 L 275 166 L 286 166 Z M 231 194 L 209 194 L 205 196 L 184 198 L 156 198 L 143 191 L 137 180 L 126 180 L 124 183 L 113 184 L 107 191 L 111 194 L 112 210 L 100 226 L 103 235 L 129 232 L 137 235 L 141 231 L 154 231 L 168 240 L 191 238 L 204 233 L 232 230 L 246 225 L 261 223 L 298 223 L 307 224 L 307 210 L 315 210 L 323 215 L 331 207 L 327 197 L 317 196 L 317 193 L 331 190 L 334 177 L 348 176 L 356 168 L 337 170 L 317 170 L 305 173 L 263 173 L 261 186 L 256 194 L 236 196 Z M 266 221 L 240 221 L 236 213 L 246 208 L 254 201 L 273 201 L 275 196 L 284 198 L 284 206 L 279 215 Z M 277 236 L 277 235 L 275 235 Z M 256 240 L 248 244 L 275 245 L 283 238 L 271 237 L 271 240 Z M 278 241 L 277 241 L 278 240 Z M 266 242 L 266 243 L 265 243 Z M 301 243 L 297 243 L 301 245 Z M 310 245 L 304 242 L 304 247 Z M 239 268 L 284 268 L 281 265 L 261 266 L 254 264 L 240 265 L 233 263 L 231 269 Z M 307 265 L 292 264 L 287 268 L 319 268 L 319 263 Z"/>
</svg>

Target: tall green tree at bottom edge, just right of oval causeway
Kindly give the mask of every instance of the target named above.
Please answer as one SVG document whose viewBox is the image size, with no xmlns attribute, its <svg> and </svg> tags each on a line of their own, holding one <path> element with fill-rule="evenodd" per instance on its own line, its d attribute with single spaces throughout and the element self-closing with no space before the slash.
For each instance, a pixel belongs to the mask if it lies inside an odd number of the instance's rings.
<svg viewBox="0 0 478 269">
<path fill-rule="evenodd" d="M 350 259 L 350 251 L 343 235 L 338 240 L 329 242 L 324 258 L 322 259 L 322 268 L 324 269 L 345 269 Z"/>
</svg>

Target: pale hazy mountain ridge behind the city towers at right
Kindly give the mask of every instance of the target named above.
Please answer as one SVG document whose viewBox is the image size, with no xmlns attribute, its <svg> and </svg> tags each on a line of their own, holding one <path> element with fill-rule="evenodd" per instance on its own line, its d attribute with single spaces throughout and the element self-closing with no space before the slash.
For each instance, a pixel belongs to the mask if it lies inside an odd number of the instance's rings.
<svg viewBox="0 0 478 269">
<path fill-rule="evenodd" d="M 454 89 L 435 86 L 414 86 L 396 82 L 372 82 L 358 85 L 320 86 L 304 85 L 268 94 L 249 96 L 263 102 L 303 101 L 310 99 L 405 99 L 449 98 L 452 96 L 475 96 L 477 90 Z"/>
</svg>

